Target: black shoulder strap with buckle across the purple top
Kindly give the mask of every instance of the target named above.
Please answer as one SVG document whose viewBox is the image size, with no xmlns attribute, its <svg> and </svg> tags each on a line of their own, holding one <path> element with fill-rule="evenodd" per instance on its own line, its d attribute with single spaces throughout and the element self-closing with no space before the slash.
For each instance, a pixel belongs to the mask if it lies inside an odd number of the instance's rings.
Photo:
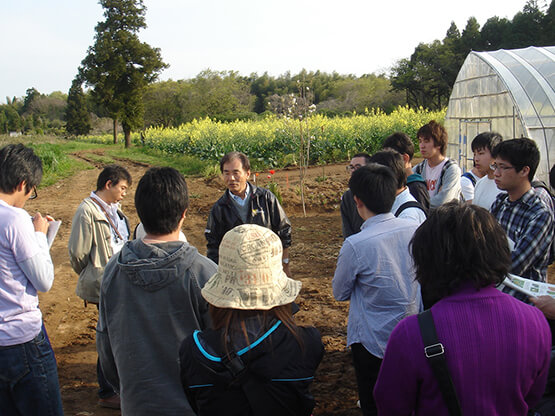
<svg viewBox="0 0 555 416">
<path fill-rule="evenodd" d="M 451 416 L 462 416 L 461 405 L 453 380 L 449 374 L 447 361 L 445 360 L 445 349 L 443 344 L 437 339 L 434 318 L 430 309 L 418 314 L 418 325 L 424 341 L 424 354 L 432 367 L 441 390 L 443 400 L 449 409 Z"/>
</svg>

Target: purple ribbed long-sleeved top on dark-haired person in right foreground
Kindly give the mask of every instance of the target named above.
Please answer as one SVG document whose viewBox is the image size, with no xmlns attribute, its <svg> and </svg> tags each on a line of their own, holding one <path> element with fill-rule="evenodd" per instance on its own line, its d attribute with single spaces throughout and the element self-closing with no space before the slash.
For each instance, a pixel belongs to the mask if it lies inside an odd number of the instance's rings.
<svg viewBox="0 0 555 416">
<path fill-rule="evenodd" d="M 547 381 L 551 333 L 543 314 L 494 287 L 465 287 L 432 315 L 462 413 L 526 415 Z M 415 315 L 393 330 L 374 397 L 379 415 L 448 415 Z"/>
</svg>

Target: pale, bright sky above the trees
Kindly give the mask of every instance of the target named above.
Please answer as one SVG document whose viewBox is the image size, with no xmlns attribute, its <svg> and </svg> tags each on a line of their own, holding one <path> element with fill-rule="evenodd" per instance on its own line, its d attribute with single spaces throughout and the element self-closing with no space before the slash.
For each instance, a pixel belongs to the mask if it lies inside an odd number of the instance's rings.
<svg viewBox="0 0 555 416">
<path fill-rule="evenodd" d="M 144 0 L 143 42 L 170 66 L 160 80 L 234 70 L 278 76 L 301 69 L 388 72 L 452 21 L 480 26 L 526 0 Z M 545 1 L 538 2 L 540 7 Z M 28 88 L 67 93 L 103 10 L 95 0 L 0 0 L 0 103 Z"/>
</svg>

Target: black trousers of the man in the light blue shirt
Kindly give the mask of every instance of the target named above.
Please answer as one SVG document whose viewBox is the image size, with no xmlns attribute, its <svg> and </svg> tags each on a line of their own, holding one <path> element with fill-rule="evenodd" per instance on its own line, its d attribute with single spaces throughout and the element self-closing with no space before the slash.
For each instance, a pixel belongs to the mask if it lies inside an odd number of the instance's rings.
<svg viewBox="0 0 555 416">
<path fill-rule="evenodd" d="M 374 401 L 374 386 L 382 365 L 382 359 L 368 352 L 362 344 L 352 344 L 353 365 L 357 377 L 358 397 L 364 416 L 376 416 L 378 409 Z"/>
</svg>

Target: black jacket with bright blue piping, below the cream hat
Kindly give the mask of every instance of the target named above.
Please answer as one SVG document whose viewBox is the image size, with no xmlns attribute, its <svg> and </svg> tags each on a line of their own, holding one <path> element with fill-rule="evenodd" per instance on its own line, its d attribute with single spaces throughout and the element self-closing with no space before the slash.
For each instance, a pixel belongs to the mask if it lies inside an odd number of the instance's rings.
<svg viewBox="0 0 555 416">
<path fill-rule="evenodd" d="M 252 324 L 251 318 L 251 324 Z M 248 325 L 233 348 L 238 375 L 222 361 L 226 352 L 221 331 L 205 330 L 183 341 L 179 351 L 181 382 L 199 416 L 309 416 L 314 398 L 308 387 L 324 354 L 316 328 L 299 328 L 302 347 L 281 321 L 267 328 Z M 250 349 L 249 349 L 250 348 Z M 237 363 L 237 361 L 234 361 Z M 241 369 L 243 369 L 241 371 Z"/>
</svg>

